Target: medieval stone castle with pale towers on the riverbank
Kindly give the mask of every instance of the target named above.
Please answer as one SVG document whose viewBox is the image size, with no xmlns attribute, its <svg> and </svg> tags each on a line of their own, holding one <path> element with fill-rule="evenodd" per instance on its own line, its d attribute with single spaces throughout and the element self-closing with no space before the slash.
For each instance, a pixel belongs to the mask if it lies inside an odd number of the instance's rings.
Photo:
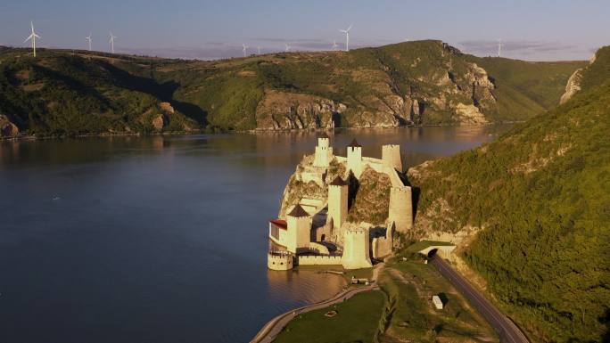
<svg viewBox="0 0 610 343">
<path fill-rule="evenodd" d="M 294 265 L 342 265 L 345 269 L 372 266 L 371 257 L 392 253 L 394 233 L 405 233 L 413 224 L 411 187 L 402 174 L 399 145 L 383 145 L 382 159 L 362 156 L 356 140 L 347 156 L 336 156 L 330 139 L 317 140 L 313 157 L 306 156 L 295 176 L 301 183 L 326 187 L 326 200 L 297 194 L 298 203 L 284 217 L 269 221 L 268 268 L 289 270 Z M 343 176 L 326 180 L 331 164 L 342 166 Z M 383 225 L 348 221 L 350 184 L 367 168 L 388 176 L 391 182 L 388 216 Z M 284 197 L 285 197 L 284 192 Z"/>
</svg>

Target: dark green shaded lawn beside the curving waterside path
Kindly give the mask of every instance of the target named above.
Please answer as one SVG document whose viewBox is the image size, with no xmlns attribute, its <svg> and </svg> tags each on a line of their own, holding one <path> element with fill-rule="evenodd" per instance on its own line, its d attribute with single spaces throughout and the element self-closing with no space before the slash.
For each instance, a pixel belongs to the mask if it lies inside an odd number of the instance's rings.
<svg viewBox="0 0 610 343">
<path fill-rule="evenodd" d="M 276 343 L 374 342 L 383 315 L 385 296 L 379 290 L 349 301 L 297 316 L 274 340 Z M 334 310 L 337 315 L 326 317 Z"/>
</svg>

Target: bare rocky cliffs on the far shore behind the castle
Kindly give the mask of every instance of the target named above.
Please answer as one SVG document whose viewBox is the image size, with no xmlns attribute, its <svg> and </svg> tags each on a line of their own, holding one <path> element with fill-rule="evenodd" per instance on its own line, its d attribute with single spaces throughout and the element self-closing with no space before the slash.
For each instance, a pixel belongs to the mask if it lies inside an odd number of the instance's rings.
<svg viewBox="0 0 610 343">
<path fill-rule="evenodd" d="M 365 69 L 351 75 L 372 92 L 346 103 L 325 97 L 268 90 L 256 109 L 257 129 L 331 127 L 401 127 L 422 124 L 484 124 L 485 113 L 497 110 L 495 86 L 485 69 L 449 60 L 432 75 L 422 74 L 402 91 L 392 77 Z M 389 72 L 390 70 L 388 70 Z M 362 75 L 365 74 L 365 75 Z M 354 101 L 355 100 L 355 101 Z"/>
</svg>

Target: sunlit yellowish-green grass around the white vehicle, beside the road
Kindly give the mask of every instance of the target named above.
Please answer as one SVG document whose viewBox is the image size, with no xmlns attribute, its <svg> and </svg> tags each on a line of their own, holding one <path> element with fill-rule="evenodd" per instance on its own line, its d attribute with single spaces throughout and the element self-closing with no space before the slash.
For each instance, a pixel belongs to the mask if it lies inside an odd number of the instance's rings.
<svg viewBox="0 0 610 343">
<path fill-rule="evenodd" d="M 498 341 L 489 324 L 430 265 L 419 260 L 390 262 L 379 282 L 390 308 L 382 342 Z M 433 295 L 445 302 L 442 310 L 433 307 Z"/>
</svg>

